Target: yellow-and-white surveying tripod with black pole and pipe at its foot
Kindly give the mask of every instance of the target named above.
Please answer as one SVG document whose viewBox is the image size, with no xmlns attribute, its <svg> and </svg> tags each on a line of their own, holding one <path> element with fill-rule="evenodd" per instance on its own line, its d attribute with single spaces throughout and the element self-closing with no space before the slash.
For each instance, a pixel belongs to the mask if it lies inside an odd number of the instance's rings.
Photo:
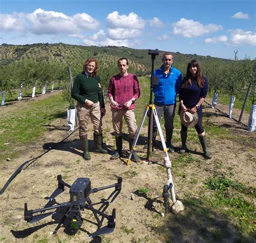
<svg viewBox="0 0 256 243">
<path fill-rule="evenodd" d="M 173 186 L 172 174 L 171 174 L 171 161 L 170 161 L 170 158 L 169 158 L 169 155 L 168 155 L 168 149 L 167 149 L 166 144 L 165 144 L 163 131 L 161 129 L 160 122 L 159 122 L 159 119 L 158 119 L 158 116 L 157 116 L 156 107 L 154 106 L 153 101 L 152 101 L 153 85 L 158 85 L 158 81 L 159 81 L 158 77 L 153 76 L 154 60 L 156 59 L 156 55 L 159 54 L 159 51 L 157 49 L 156 50 L 149 50 L 149 54 L 151 55 L 151 60 L 152 60 L 151 80 L 150 80 L 150 101 L 149 101 L 149 104 L 147 104 L 146 109 L 144 110 L 142 121 L 140 121 L 139 128 L 138 128 L 136 136 L 134 138 L 132 148 L 131 148 L 131 151 L 130 151 L 130 155 L 129 155 L 129 158 L 127 159 L 127 161 L 126 161 L 126 164 L 127 165 L 130 164 L 130 159 L 132 157 L 132 153 L 133 153 L 133 151 L 136 150 L 136 144 L 137 144 L 137 141 L 138 141 L 138 138 L 139 138 L 139 135 L 140 135 L 140 131 L 142 131 L 143 123 L 146 119 L 147 114 L 149 113 L 149 125 L 147 127 L 147 158 L 146 158 L 146 160 L 149 161 L 149 155 L 150 155 L 150 149 L 151 149 L 151 143 L 152 143 L 153 117 L 154 117 L 154 120 L 157 123 L 157 130 L 159 132 L 161 144 L 163 145 L 164 154 L 165 154 L 164 166 L 167 170 L 168 180 L 164 185 L 163 197 L 164 197 L 164 202 L 165 202 L 165 211 L 167 213 L 167 212 L 170 211 L 168 190 L 170 189 L 170 191 L 171 191 L 171 197 L 172 197 L 173 204 L 176 203 L 176 197 L 175 197 L 175 193 L 174 193 L 174 186 Z"/>
</svg>

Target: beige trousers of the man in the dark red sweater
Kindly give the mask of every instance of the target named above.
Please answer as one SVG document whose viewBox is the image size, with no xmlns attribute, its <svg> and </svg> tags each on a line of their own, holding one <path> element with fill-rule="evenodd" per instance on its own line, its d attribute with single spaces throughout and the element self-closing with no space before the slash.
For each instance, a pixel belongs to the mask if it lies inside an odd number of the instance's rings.
<svg viewBox="0 0 256 243">
<path fill-rule="evenodd" d="M 129 131 L 129 137 L 134 138 L 137 131 L 137 125 L 134 115 L 134 110 L 119 110 L 111 108 L 112 112 L 112 122 L 113 122 L 113 129 L 114 129 L 114 135 L 120 136 L 122 134 L 122 128 L 123 128 L 123 117 L 126 121 L 128 131 Z"/>
</svg>

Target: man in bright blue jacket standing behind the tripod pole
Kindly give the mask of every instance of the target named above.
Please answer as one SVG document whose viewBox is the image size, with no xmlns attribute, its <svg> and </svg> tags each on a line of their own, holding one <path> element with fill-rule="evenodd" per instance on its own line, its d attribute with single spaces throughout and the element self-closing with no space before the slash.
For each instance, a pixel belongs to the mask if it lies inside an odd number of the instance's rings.
<svg viewBox="0 0 256 243">
<path fill-rule="evenodd" d="M 172 147 L 173 119 L 176 108 L 176 95 L 180 91 L 182 76 L 181 72 L 172 66 L 173 55 L 171 53 L 164 53 L 162 61 L 163 65 L 153 73 L 154 76 L 159 77 L 159 84 L 153 85 L 154 105 L 159 121 L 164 113 L 166 147 L 169 149 L 169 152 L 174 152 Z M 153 119 L 153 145 L 156 136 L 157 123 Z"/>
</svg>

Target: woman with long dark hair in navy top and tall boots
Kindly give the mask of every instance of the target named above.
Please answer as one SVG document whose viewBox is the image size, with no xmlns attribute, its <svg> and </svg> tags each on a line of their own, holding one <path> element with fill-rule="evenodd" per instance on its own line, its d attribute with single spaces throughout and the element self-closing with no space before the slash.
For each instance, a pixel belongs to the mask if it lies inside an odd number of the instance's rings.
<svg viewBox="0 0 256 243">
<path fill-rule="evenodd" d="M 181 89 L 179 93 L 179 113 L 181 109 L 184 112 L 190 112 L 192 114 L 198 113 L 198 122 L 194 126 L 197 130 L 199 141 L 204 150 L 204 157 L 211 158 L 212 155 L 208 151 L 205 132 L 203 128 L 203 111 L 202 103 L 207 95 L 208 82 L 201 74 L 201 68 L 196 60 L 190 61 L 187 65 L 186 77 L 183 79 Z M 181 142 L 182 146 L 179 152 L 184 153 L 187 150 L 187 127 L 181 123 Z"/>
</svg>

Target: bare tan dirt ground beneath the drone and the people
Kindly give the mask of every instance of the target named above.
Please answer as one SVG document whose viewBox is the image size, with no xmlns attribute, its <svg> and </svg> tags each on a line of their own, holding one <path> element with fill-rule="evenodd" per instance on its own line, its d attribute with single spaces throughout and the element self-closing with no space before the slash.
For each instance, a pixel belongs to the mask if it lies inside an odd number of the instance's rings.
<svg viewBox="0 0 256 243">
<path fill-rule="evenodd" d="M 32 102 L 32 101 L 26 101 Z M 17 102 L 13 105 L 2 107 L 1 112 L 15 112 L 26 102 Z M 211 102 L 208 100 L 208 102 Z M 217 105 L 217 108 L 227 112 L 227 107 Z M 25 166 L 10 183 L 2 196 L 0 196 L 0 242 L 216 242 L 212 232 L 219 228 L 225 229 L 222 242 L 234 242 L 235 239 L 244 239 L 232 220 L 223 214 L 201 205 L 185 205 L 185 211 L 180 214 L 165 214 L 163 199 L 160 198 L 163 186 L 167 180 L 166 170 L 163 167 L 164 153 L 159 149 L 154 150 L 151 163 L 134 163 L 126 165 L 126 158 L 110 161 L 110 154 L 114 145 L 111 135 L 112 123 L 109 104 L 106 105 L 107 113 L 104 117 L 104 142 L 109 149 L 109 155 L 94 152 L 92 128 L 90 128 L 90 154 L 91 161 L 82 158 L 78 130 L 71 134 L 67 130 L 66 120 L 58 119 L 51 123 L 48 133 L 41 137 L 35 144 L 23 147 L 23 154 L 13 161 L 0 164 L 0 186 L 5 184 L 12 173 L 25 161 L 35 158 L 43 152 L 29 166 Z M 176 197 L 185 204 L 188 198 L 199 199 L 203 193 L 206 178 L 214 173 L 230 171 L 234 177 L 247 186 L 255 186 L 255 133 L 250 133 L 244 125 L 238 125 L 234 120 L 228 119 L 217 109 L 212 109 L 205 104 L 205 119 L 217 126 L 225 127 L 231 135 L 241 137 L 240 140 L 225 140 L 208 138 L 209 147 L 213 158 L 205 160 L 201 154 L 199 143 L 189 143 L 193 163 L 187 163 L 179 168 L 176 164 L 172 169 Z M 234 109 L 233 115 L 238 119 L 240 110 Z M 245 114 L 243 121 L 248 121 Z M 137 121 L 139 123 L 139 121 Z M 207 128 L 205 128 L 207 131 Z M 124 150 L 129 155 L 127 130 L 124 130 Z M 71 135 L 70 135 L 71 134 Z M 146 128 L 143 128 L 144 137 L 140 138 L 137 150 L 141 158 L 145 158 Z M 59 143 L 70 135 L 64 142 Z M 179 130 L 174 130 L 173 145 L 177 151 L 180 147 Z M 244 139 L 242 139 L 244 138 Z M 54 147 L 56 145 L 56 147 Z M 53 149 L 51 149 L 54 147 Z M 51 149 L 51 150 L 50 150 Z M 174 152 L 171 160 L 179 155 Z M 144 161 L 145 162 L 145 161 Z M 117 182 L 116 175 L 123 177 L 123 186 L 120 195 L 109 206 L 106 213 L 117 210 L 117 224 L 113 233 L 103 235 L 91 240 L 86 240 L 88 233 L 97 230 L 96 226 L 86 221 L 93 220 L 89 211 L 82 212 L 85 219 L 80 231 L 76 235 L 68 235 L 61 227 L 57 234 L 52 235 L 56 224 L 48 217 L 35 224 L 28 224 L 24 220 L 24 203 L 29 209 L 43 207 L 49 197 L 57 188 L 57 175 L 61 174 L 66 183 L 72 184 L 78 177 L 90 178 L 92 188 L 110 185 Z M 196 183 L 195 183 L 196 181 Z M 193 182 L 193 183 L 192 183 Z M 143 193 L 142 189 L 147 189 Z M 112 189 L 100 191 L 91 196 L 92 202 L 99 202 L 106 198 Z M 133 193 L 133 200 L 131 200 Z M 69 201 L 69 190 L 66 189 L 56 197 L 58 203 Z M 255 201 L 253 202 L 255 205 Z M 202 212 L 207 212 L 209 217 L 204 217 Z M 106 221 L 104 221 L 106 224 Z"/>
</svg>

